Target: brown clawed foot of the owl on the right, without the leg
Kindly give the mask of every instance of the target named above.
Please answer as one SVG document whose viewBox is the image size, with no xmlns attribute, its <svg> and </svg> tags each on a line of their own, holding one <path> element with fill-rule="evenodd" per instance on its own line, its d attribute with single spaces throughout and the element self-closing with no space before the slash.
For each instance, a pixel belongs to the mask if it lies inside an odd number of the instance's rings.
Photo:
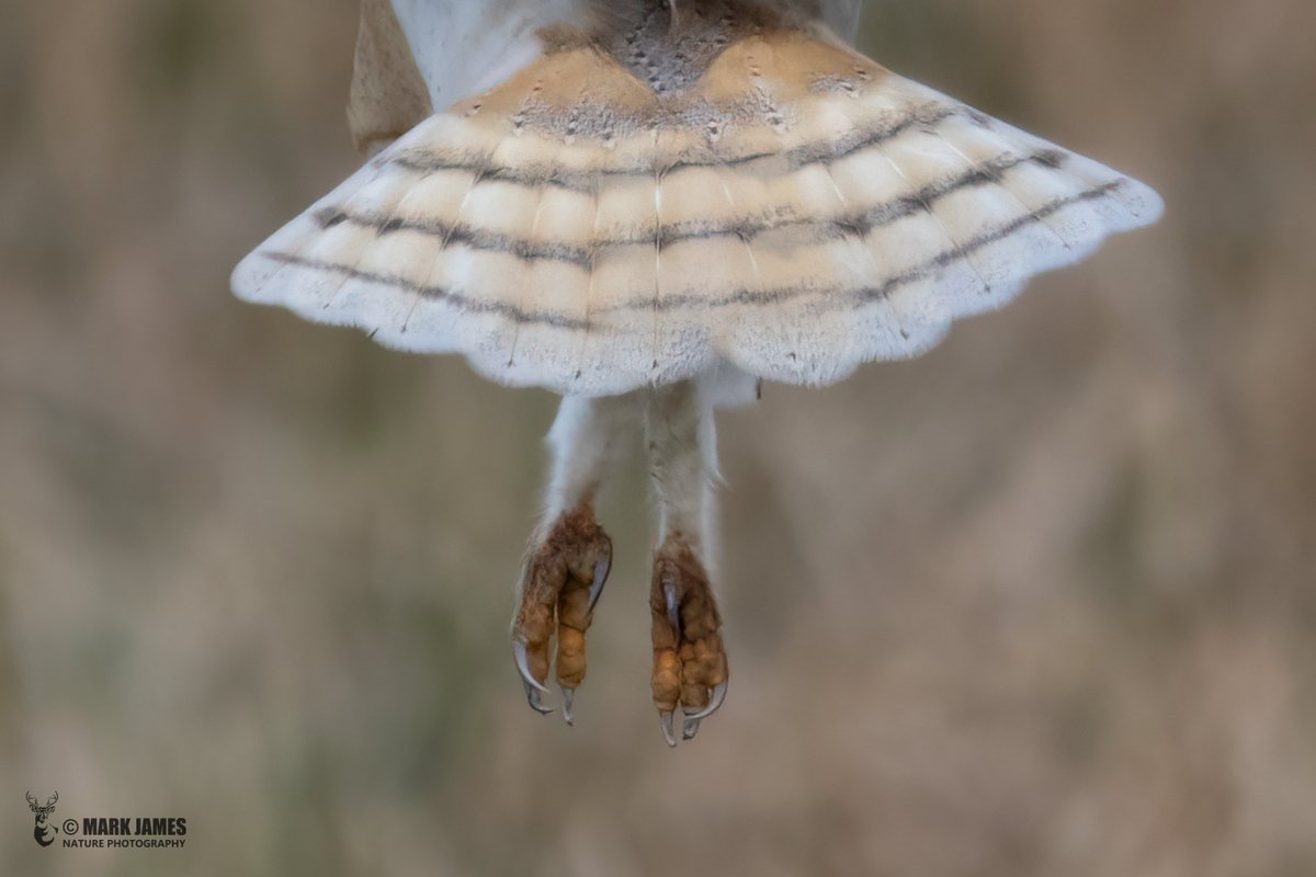
<svg viewBox="0 0 1316 877">
<path fill-rule="evenodd" d="M 654 555 L 653 699 L 667 746 L 676 746 L 678 703 L 684 718 L 682 738 L 694 740 L 699 723 L 726 699 L 726 652 L 722 619 L 708 584 L 708 573 L 690 543 L 671 535 Z"/>
</svg>

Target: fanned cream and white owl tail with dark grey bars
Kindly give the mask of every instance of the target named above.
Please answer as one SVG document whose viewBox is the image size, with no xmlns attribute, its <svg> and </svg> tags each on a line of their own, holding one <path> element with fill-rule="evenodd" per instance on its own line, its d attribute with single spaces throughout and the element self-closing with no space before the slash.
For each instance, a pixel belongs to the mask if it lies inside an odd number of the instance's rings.
<svg viewBox="0 0 1316 877">
<path fill-rule="evenodd" d="M 725 364 L 828 384 L 1161 213 L 830 32 L 742 25 L 665 51 L 666 26 L 541 32 L 245 259 L 236 292 L 559 393 Z"/>
</svg>

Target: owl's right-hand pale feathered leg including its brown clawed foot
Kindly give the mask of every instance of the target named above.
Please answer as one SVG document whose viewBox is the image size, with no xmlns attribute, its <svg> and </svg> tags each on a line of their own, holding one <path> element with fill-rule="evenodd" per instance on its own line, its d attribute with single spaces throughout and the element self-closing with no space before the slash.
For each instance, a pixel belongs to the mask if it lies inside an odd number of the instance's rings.
<svg viewBox="0 0 1316 877">
<path fill-rule="evenodd" d="M 708 576 L 717 476 L 712 405 L 694 383 L 653 391 L 645 410 L 649 473 L 658 506 L 649 609 L 653 625 L 653 701 L 663 736 L 676 746 L 676 706 L 683 736 L 726 697 L 721 617 Z"/>
</svg>

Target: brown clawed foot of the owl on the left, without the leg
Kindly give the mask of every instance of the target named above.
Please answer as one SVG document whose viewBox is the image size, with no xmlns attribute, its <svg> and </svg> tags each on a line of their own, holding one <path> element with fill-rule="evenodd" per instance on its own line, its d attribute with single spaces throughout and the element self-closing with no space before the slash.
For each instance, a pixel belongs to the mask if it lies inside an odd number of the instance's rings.
<svg viewBox="0 0 1316 877">
<path fill-rule="evenodd" d="M 525 698 L 537 713 L 549 689 L 549 661 L 557 635 L 557 677 L 562 715 L 571 724 L 571 699 L 584 680 L 584 634 L 594 605 L 612 567 L 612 539 L 588 502 L 565 513 L 530 550 L 521 577 L 520 606 L 512 621 L 512 655 L 525 685 Z"/>
</svg>

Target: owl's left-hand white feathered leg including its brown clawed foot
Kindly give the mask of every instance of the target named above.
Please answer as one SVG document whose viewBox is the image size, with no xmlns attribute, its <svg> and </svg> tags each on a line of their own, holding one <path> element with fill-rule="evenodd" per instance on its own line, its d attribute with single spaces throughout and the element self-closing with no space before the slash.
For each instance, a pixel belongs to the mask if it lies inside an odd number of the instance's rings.
<svg viewBox="0 0 1316 877">
<path fill-rule="evenodd" d="M 512 618 L 512 655 L 526 701 L 551 713 L 547 692 L 553 640 L 562 715 L 584 680 L 584 635 L 612 567 L 612 539 L 595 519 L 594 498 L 620 439 L 638 431 L 636 397 L 565 397 L 549 431 L 553 468 L 544 519 L 530 538 Z"/>
</svg>

